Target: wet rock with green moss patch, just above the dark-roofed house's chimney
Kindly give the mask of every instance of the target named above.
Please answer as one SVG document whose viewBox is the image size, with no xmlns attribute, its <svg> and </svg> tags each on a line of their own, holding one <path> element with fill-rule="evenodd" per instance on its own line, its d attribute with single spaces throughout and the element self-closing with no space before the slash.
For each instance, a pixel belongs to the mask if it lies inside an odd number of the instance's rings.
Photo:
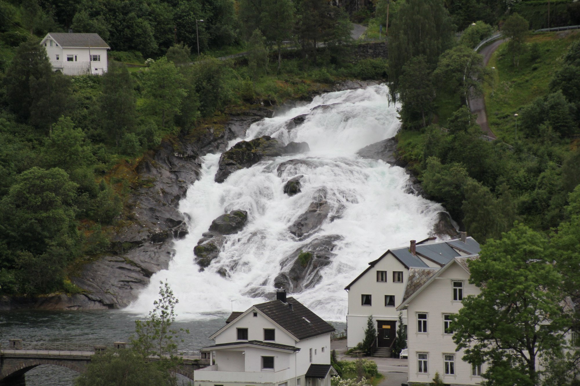
<svg viewBox="0 0 580 386">
<path fill-rule="evenodd" d="M 282 272 L 274 279 L 274 286 L 289 292 L 316 286 L 322 279 L 320 270 L 332 262 L 336 256 L 332 251 L 340 240 L 342 236 L 339 235 L 321 236 L 296 249 L 282 261 Z"/>
</svg>

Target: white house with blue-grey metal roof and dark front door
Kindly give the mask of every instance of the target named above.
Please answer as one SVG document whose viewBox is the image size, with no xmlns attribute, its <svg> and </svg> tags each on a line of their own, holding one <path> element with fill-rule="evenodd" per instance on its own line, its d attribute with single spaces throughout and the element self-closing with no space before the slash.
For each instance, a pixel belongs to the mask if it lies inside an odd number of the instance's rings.
<svg viewBox="0 0 580 386">
<path fill-rule="evenodd" d="M 346 316 L 347 346 L 355 347 L 364 340 L 367 319 L 377 329 L 377 356 L 389 356 L 396 338 L 398 311 L 403 300 L 409 270 L 413 268 L 438 269 L 459 256 L 479 253 L 480 246 L 472 237 L 461 232 L 461 238 L 437 242 L 428 238 L 402 248 L 389 249 L 357 276 L 345 289 L 349 293 Z M 403 311 L 407 324 L 407 311 Z"/>
</svg>

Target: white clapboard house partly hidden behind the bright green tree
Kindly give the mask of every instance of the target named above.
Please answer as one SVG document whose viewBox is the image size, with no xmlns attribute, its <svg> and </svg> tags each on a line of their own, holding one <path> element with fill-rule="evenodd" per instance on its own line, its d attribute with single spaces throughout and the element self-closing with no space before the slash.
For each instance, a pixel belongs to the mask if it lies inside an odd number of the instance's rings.
<svg viewBox="0 0 580 386">
<path fill-rule="evenodd" d="M 467 295 L 480 289 L 469 283 L 468 260 L 455 257 L 443 268 L 411 268 L 403 301 L 398 310 L 408 315 L 407 346 L 409 383 L 430 383 L 438 372 L 445 384 L 481 384 L 485 364 L 474 366 L 461 358 L 465 349 L 455 351 L 451 314 L 463 307 Z"/>
</svg>

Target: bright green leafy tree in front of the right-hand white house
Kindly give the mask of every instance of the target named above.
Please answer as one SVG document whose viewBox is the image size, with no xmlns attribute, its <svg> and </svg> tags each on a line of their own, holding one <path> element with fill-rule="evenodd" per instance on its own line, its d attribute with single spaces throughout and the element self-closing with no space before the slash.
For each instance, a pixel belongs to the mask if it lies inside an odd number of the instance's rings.
<svg viewBox="0 0 580 386">
<path fill-rule="evenodd" d="M 481 292 L 463 298 L 452 323 L 458 349 L 465 348 L 462 359 L 487 362 L 483 377 L 491 383 L 538 384 L 538 352 L 560 352 L 560 334 L 570 323 L 546 238 L 518 224 L 488 241 L 469 268 L 470 283 Z"/>
</svg>

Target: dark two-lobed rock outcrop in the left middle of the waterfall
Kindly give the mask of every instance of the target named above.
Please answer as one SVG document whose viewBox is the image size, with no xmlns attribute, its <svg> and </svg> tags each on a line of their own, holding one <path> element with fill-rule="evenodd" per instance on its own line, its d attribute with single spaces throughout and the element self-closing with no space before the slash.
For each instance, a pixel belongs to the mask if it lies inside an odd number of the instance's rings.
<svg viewBox="0 0 580 386">
<path fill-rule="evenodd" d="M 245 210 L 232 210 L 230 213 L 222 214 L 212 221 L 209 232 L 205 232 L 202 238 L 194 247 L 195 263 L 201 268 L 208 267 L 212 260 L 218 257 L 222 245 L 226 238 L 224 235 L 231 235 L 244 228 L 248 221 L 248 212 Z"/>
</svg>

